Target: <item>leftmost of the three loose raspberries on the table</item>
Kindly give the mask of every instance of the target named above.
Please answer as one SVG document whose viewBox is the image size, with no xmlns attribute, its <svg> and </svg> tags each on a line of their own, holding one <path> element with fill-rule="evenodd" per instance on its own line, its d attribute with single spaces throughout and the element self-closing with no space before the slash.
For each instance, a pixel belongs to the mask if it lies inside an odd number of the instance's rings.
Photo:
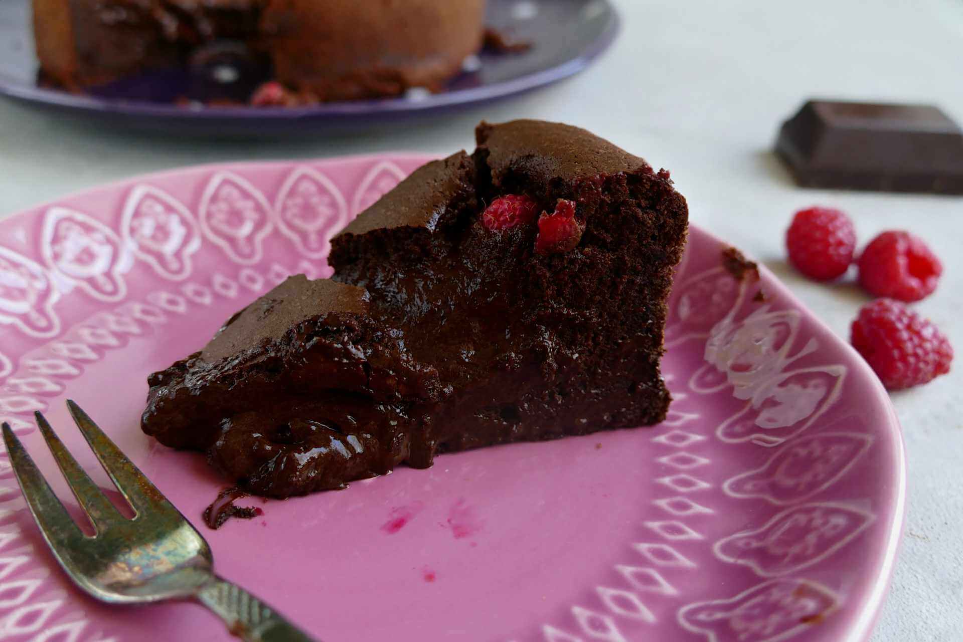
<svg viewBox="0 0 963 642">
<path fill-rule="evenodd" d="M 796 270 L 817 281 L 829 281 L 845 274 L 852 263 L 856 229 L 839 210 L 799 210 L 786 231 L 786 247 Z"/>
</svg>

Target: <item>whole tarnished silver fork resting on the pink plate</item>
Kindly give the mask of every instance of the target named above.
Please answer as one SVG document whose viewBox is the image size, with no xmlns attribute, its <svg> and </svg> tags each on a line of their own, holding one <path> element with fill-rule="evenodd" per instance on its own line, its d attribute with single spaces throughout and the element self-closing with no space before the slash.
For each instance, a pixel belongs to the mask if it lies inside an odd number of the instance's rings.
<svg viewBox="0 0 963 642">
<path fill-rule="evenodd" d="M 92 536 L 67 514 L 10 424 L 3 424 L 3 438 L 30 512 L 77 586 L 107 603 L 195 600 L 247 642 L 311 642 L 313 638 L 273 608 L 215 575 L 211 549 L 195 527 L 80 406 L 71 400 L 66 404 L 100 465 L 134 509 L 133 519 L 117 511 L 40 413 L 36 413 L 40 432 L 90 518 Z"/>
</svg>

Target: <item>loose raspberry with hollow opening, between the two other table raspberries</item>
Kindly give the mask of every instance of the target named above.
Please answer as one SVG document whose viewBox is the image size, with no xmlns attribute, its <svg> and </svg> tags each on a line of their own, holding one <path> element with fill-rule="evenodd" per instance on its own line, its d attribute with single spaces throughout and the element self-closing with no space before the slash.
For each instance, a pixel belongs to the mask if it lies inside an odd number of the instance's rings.
<svg viewBox="0 0 963 642">
<path fill-rule="evenodd" d="M 943 264 L 923 239 L 909 232 L 883 232 L 859 257 L 859 284 L 872 295 L 919 301 L 936 290 Z"/>
</svg>

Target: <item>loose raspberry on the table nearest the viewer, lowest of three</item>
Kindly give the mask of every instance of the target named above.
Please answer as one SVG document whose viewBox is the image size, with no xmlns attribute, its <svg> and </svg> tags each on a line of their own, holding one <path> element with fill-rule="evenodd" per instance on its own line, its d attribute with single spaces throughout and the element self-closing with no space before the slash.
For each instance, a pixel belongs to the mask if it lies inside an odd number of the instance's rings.
<svg viewBox="0 0 963 642">
<path fill-rule="evenodd" d="M 893 390 L 946 374 L 953 360 L 950 341 L 937 327 L 892 298 L 863 306 L 852 322 L 850 342 Z"/>
</svg>

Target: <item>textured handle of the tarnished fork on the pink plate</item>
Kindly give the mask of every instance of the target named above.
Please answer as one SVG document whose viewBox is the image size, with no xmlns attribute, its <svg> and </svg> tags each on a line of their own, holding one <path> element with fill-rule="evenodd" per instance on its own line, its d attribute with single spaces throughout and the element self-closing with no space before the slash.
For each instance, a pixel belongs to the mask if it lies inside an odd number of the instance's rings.
<svg viewBox="0 0 963 642">
<path fill-rule="evenodd" d="M 245 642 L 319 642 L 226 579 L 215 576 L 198 589 L 196 599 L 217 613 L 231 633 Z"/>
</svg>

